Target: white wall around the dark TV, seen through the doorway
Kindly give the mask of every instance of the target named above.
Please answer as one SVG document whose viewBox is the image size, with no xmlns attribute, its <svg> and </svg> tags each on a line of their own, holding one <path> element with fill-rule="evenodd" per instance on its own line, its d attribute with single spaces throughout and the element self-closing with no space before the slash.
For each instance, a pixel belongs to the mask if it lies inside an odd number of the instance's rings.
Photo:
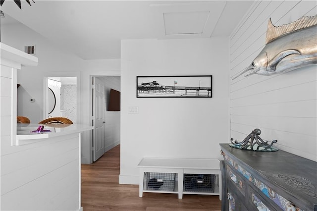
<svg viewBox="0 0 317 211">
<path fill-rule="evenodd" d="M 120 77 L 107 76 L 100 77 L 105 84 L 106 93 L 106 110 L 105 110 L 105 152 L 120 144 L 120 111 L 108 111 L 108 103 L 110 96 L 110 89 L 120 92 Z"/>
</svg>

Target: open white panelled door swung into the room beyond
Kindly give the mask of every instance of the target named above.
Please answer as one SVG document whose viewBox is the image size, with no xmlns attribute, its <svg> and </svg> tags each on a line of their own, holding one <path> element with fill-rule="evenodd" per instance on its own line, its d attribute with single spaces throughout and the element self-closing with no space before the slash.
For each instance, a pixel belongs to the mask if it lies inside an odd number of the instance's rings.
<svg viewBox="0 0 317 211">
<path fill-rule="evenodd" d="M 102 81 L 93 77 L 93 159 L 96 161 L 105 153 L 105 110 L 106 94 Z"/>
</svg>

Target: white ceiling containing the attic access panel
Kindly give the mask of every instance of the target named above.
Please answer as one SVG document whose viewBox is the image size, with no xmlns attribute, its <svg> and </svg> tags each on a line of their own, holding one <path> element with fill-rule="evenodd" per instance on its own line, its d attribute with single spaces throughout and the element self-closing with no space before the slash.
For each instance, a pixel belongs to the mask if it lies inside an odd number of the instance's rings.
<svg viewBox="0 0 317 211">
<path fill-rule="evenodd" d="M 17 21 L 82 59 L 120 58 L 122 39 L 229 36 L 252 0 L 6 0 L 1 24 Z"/>
</svg>

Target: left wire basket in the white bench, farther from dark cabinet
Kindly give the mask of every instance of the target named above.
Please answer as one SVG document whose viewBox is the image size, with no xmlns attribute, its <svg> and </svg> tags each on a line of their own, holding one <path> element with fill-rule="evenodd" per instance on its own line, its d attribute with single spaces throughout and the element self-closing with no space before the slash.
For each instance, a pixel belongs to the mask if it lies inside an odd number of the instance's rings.
<svg viewBox="0 0 317 211">
<path fill-rule="evenodd" d="M 146 190 L 174 191 L 175 173 L 145 172 L 144 181 Z"/>
</svg>

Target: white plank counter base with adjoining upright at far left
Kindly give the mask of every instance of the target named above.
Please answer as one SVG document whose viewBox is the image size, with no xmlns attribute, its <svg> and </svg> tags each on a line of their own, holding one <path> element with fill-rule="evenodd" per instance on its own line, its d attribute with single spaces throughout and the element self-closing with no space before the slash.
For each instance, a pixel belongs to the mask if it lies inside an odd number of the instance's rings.
<svg viewBox="0 0 317 211">
<path fill-rule="evenodd" d="M 11 146 L 11 71 L 1 65 L 0 210 L 81 210 L 78 133 Z"/>
</svg>

